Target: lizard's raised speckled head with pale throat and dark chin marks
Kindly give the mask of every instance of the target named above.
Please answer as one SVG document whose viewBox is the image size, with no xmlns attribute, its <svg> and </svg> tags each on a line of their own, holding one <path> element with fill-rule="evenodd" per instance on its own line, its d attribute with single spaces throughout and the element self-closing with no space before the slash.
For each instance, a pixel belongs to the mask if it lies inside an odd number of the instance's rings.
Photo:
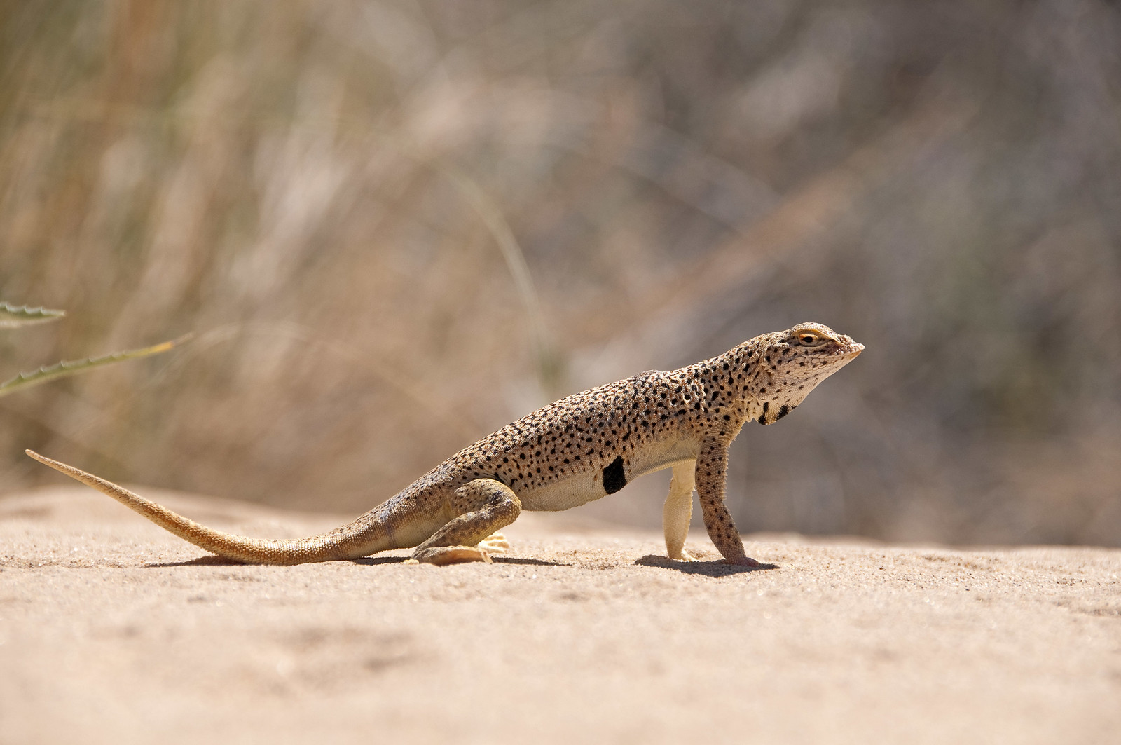
<svg viewBox="0 0 1121 745">
<path fill-rule="evenodd" d="M 799 323 L 766 334 L 756 358 L 759 375 L 749 393 L 762 411 L 760 424 L 773 424 L 809 395 L 818 383 L 855 359 L 864 344 L 821 323 Z"/>
</svg>

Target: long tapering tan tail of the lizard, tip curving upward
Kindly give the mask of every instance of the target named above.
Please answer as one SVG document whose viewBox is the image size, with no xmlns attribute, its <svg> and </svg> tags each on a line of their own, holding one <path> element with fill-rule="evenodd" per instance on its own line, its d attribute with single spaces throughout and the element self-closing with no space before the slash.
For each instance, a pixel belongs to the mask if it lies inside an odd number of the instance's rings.
<svg viewBox="0 0 1121 745">
<path fill-rule="evenodd" d="M 379 530 L 378 521 L 360 521 L 364 525 L 352 523 L 330 533 L 306 539 L 270 541 L 232 535 L 200 525 L 178 515 L 167 507 L 132 494 L 112 481 L 86 473 L 83 470 L 61 463 L 57 460 L 44 458 L 37 452 L 25 450 L 35 460 L 65 473 L 73 479 L 108 494 L 124 506 L 140 513 L 166 531 L 178 535 L 184 541 L 226 559 L 233 559 L 247 564 L 303 564 L 311 561 L 331 561 L 336 559 L 358 559 L 377 551 L 397 548 L 392 545 L 392 536 L 385 535 Z M 372 516 L 368 513 L 367 516 Z M 363 516 L 363 517 L 367 517 Z M 379 535 L 382 534 L 382 535 Z"/>
</svg>

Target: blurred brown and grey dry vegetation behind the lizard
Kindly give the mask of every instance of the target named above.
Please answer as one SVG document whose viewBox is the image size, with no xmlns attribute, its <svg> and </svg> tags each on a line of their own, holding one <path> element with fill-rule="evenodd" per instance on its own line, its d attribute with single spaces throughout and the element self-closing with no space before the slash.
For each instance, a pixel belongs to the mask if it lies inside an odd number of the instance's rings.
<svg viewBox="0 0 1121 745">
<path fill-rule="evenodd" d="M 0 3 L 0 491 L 358 513 L 562 395 L 818 321 L 740 528 L 1121 545 L 1121 11 Z M 577 511 L 660 524 L 668 475 Z M 559 516 L 558 516 L 559 517 Z M 700 525 L 700 522 L 696 523 Z"/>
</svg>

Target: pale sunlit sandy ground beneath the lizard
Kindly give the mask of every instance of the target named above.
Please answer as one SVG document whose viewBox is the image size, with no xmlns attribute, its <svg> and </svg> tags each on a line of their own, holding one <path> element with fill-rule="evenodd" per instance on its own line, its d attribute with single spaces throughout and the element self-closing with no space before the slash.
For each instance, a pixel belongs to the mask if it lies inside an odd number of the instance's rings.
<svg viewBox="0 0 1121 745">
<path fill-rule="evenodd" d="M 0 499 L 0 742 L 1121 742 L 1121 551 L 749 536 L 745 571 L 569 514 L 490 565 L 281 568 L 81 487 Z"/>
</svg>

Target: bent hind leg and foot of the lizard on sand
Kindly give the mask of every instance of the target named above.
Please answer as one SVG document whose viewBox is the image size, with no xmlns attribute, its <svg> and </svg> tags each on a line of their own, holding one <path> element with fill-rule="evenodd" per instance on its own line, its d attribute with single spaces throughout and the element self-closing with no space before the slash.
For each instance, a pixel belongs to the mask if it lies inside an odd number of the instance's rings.
<svg viewBox="0 0 1121 745">
<path fill-rule="evenodd" d="M 409 557 L 410 562 L 454 564 L 485 561 L 489 563 L 491 553 L 500 553 L 509 548 L 506 537 L 494 531 L 517 519 L 521 514 L 521 500 L 501 481 L 475 479 L 455 490 L 452 509 L 458 517 L 418 545 Z"/>
</svg>

